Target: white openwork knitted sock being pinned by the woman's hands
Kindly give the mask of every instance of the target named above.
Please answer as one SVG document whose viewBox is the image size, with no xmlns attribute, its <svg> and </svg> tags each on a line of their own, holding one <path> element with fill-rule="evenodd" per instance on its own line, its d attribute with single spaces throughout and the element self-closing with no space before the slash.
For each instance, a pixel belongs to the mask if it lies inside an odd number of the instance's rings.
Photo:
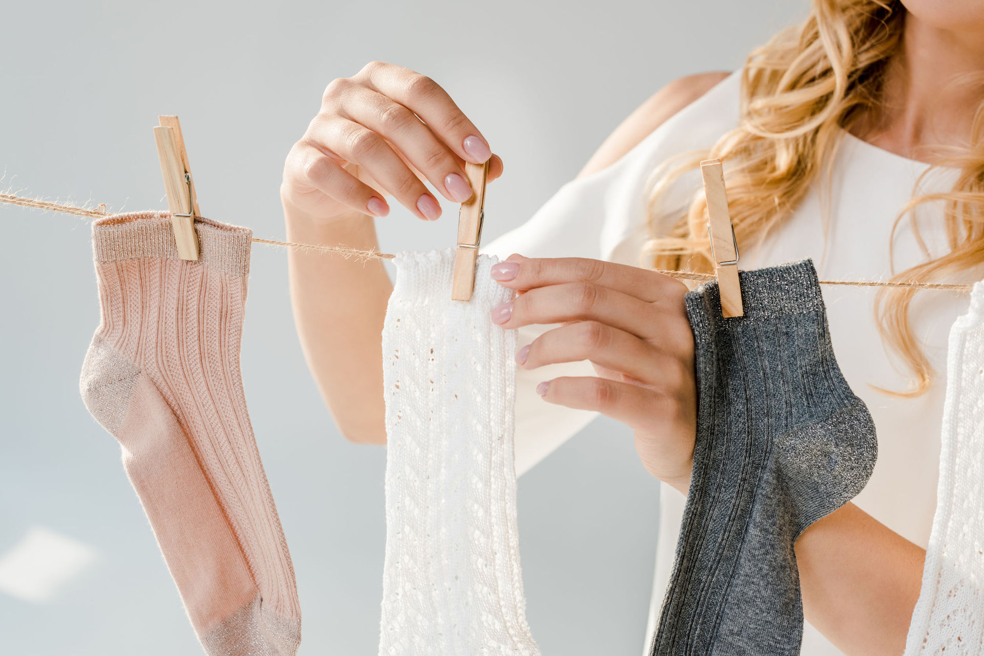
<svg viewBox="0 0 984 656">
<path fill-rule="evenodd" d="M 454 249 L 400 253 L 383 328 L 386 561 L 381 656 L 539 652 L 525 620 L 513 453 L 512 292 L 479 256 L 451 300 Z"/>
</svg>

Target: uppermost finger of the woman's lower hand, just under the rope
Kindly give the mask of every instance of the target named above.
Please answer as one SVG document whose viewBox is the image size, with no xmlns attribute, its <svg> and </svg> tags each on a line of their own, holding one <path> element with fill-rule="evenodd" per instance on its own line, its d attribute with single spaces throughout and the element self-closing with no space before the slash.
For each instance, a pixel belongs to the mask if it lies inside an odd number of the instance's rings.
<svg viewBox="0 0 984 656">
<path fill-rule="evenodd" d="M 630 294 L 647 303 L 678 304 L 687 292 L 679 280 L 646 268 L 586 258 L 523 258 L 512 255 L 492 267 L 492 278 L 510 289 L 534 289 L 565 282 L 589 282 Z"/>
</svg>

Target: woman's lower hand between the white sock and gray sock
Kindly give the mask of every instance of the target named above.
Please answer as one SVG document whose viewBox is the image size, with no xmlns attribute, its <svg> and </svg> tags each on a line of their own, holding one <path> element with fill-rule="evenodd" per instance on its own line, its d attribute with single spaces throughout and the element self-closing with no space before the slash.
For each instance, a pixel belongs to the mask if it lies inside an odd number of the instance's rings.
<svg viewBox="0 0 984 656">
<path fill-rule="evenodd" d="M 694 337 L 687 287 L 645 268 L 581 258 L 510 256 L 492 277 L 520 293 L 492 310 L 503 328 L 558 324 L 523 346 L 523 369 L 590 360 L 598 378 L 564 377 L 536 391 L 630 426 L 646 470 L 684 495 L 697 434 Z"/>
</svg>

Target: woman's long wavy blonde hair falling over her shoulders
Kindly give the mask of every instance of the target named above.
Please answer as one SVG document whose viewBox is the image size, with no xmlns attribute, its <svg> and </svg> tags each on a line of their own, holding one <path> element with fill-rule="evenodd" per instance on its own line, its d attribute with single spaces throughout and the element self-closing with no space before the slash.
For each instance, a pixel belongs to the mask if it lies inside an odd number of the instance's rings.
<svg viewBox="0 0 984 656">
<path fill-rule="evenodd" d="M 701 159 L 719 157 L 738 242 L 761 244 L 818 176 L 830 176 L 844 131 L 865 116 L 878 116 L 886 67 L 898 50 L 905 14 L 899 0 L 814 0 L 802 24 L 754 50 L 742 73 L 739 127 L 711 149 L 687 153 L 653 171 L 651 234 L 657 234 L 657 209 L 665 207 L 673 181 L 696 169 Z M 984 102 L 974 115 L 969 148 L 936 163 L 959 169 L 958 178 L 950 192 L 914 195 L 899 212 L 892 237 L 908 216 L 926 262 L 894 274 L 893 280 L 939 280 L 984 262 Z M 935 259 L 915 221 L 914 210 L 928 203 L 943 207 L 951 249 Z M 886 247 L 891 252 L 891 243 Z M 655 268 L 710 270 L 703 192 L 667 233 L 648 240 L 644 257 Z M 923 393 L 935 373 L 910 326 L 914 293 L 894 288 L 876 299 L 883 339 L 911 374 L 908 389 L 883 389 L 893 395 Z"/>
</svg>

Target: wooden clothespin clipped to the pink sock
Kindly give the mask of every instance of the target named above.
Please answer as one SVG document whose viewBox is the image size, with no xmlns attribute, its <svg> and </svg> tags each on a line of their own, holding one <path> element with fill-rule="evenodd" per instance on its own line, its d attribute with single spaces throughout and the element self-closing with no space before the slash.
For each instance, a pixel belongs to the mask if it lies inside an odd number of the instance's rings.
<svg viewBox="0 0 984 656">
<path fill-rule="evenodd" d="M 181 124 L 177 116 L 158 116 L 160 123 L 154 128 L 160 174 L 164 178 L 167 193 L 167 209 L 171 212 L 171 226 L 178 257 L 182 260 L 198 260 L 198 235 L 195 234 L 195 217 L 201 216 L 195 183 L 188 165 L 188 152 L 181 136 Z"/>
</svg>

